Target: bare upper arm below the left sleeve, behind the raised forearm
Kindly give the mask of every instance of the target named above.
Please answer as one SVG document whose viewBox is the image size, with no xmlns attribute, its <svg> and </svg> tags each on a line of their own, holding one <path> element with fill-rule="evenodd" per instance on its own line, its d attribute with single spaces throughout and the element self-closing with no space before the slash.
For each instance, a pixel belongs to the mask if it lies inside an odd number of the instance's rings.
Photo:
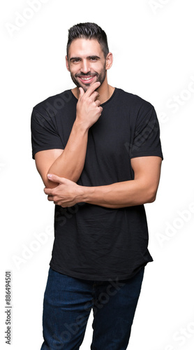
<svg viewBox="0 0 194 350">
<path fill-rule="evenodd" d="M 46 186 L 47 183 L 47 172 L 54 163 L 54 161 L 63 153 L 62 149 L 52 149 L 46 151 L 39 151 L 35 154 L 35 162 L 38 173 L 43 179 L 43 183 Z"/>
</svg>

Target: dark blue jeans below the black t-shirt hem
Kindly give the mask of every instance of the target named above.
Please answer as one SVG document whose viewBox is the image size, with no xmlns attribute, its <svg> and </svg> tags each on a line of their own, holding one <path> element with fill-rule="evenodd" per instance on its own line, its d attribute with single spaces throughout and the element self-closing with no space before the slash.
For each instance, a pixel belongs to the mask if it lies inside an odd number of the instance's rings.
<svg viewBox="0 0 194 350">
<path fill-rule="evenodd" d="M 91 309 L 92 350 L 124 350 L 128 346 L 144 267 L 131 279 L 87 281 L 50 268 L 43 304 L 40 350 L 78 350 Z"/>
</svg>

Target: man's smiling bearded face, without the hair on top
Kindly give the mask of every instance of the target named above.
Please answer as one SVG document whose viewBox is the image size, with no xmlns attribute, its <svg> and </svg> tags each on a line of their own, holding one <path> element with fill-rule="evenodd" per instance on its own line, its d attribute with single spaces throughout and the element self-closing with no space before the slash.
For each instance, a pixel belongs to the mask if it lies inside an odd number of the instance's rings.
<svg viewBox="0 0 194 350">
<path fill-rule="evenodd" d="M 84 92 L 96 81 L 106 78 L 106 60 L 96 39 L 78 38 L 72 41 L 68 50 L 66 65 L 73 83 Z"/>
</svg>

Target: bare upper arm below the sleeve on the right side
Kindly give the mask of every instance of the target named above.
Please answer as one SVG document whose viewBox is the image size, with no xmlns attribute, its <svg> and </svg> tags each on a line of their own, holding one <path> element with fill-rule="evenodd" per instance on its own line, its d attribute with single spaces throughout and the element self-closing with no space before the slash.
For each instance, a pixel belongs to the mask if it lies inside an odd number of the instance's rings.
<svg viewBox="0 0 194 350">
<path fill-rule="evenodd" d="M 151 191 L 156 195 L 161 176 L 162 158 L 144 156 L 132 158 L 130 162 L 134 172 L 134 180 L 141 181 L 142 186 L 151 188 Z"/>
</svg>

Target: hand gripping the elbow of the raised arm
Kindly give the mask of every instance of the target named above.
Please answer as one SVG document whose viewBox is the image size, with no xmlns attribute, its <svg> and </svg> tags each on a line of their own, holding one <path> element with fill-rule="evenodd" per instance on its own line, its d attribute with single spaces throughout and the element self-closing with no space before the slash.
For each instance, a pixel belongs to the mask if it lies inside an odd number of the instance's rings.
<svg viewBox="0 0 194 350">
<path fill-rule="evenodd" d="M 82 186 L 54 174 L 48 174 L 47 178 L 50 181 L 58 183 L 58 186 L 55 188 L 44 189 L 45 195 L 47 195 L 49 201 L 52 201 L 54 204 L 60 205 L 63 208 L 73 207 L 76 203 L 84 202 L 82 200 Z"/>
</svg>

